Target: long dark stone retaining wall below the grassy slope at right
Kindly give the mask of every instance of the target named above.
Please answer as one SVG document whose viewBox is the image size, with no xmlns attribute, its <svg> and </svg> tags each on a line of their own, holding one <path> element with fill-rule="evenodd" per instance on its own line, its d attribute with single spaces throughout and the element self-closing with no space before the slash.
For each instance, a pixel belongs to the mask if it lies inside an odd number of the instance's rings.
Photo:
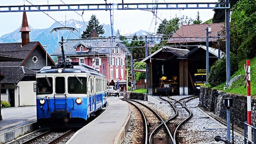
<svg viewBox="0 0 256 144">
<path fill-rule="evenodd" d="M 233 99 L 233 107 L 230 108 L 231 122 L 243 128 L 247 121 L 247 98 L 246 96 L 223 93 L 210 88 L 201 87 L 199 99 L 203 108 L 212 111 L 215 115 L 226 119 L 226 107 L 223 105 L 225 98 Z M 256 124 L 256 99 L 251 99 L 252 124 Z"/>
</svg>

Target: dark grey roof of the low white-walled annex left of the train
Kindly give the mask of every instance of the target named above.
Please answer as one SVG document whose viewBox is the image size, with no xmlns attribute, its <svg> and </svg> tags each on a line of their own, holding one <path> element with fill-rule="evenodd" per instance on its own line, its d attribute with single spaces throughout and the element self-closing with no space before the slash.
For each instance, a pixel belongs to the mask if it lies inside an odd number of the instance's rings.
<svg viewBox="0 0 256 144">
<path fill-rule="evenodd" d="M 36 72 L 25 66 L 1 66 L 5 78 L 1 83 L 18 83 L 25 76 L 36 76 Z"/>
</svg>

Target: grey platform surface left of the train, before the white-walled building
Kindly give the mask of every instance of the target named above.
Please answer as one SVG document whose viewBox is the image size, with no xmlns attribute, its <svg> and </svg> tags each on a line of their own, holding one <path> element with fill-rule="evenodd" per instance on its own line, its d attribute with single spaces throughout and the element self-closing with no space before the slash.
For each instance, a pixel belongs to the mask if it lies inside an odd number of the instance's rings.
<svg viewBox="0 0 256 144">
<path fill-rule="evenodd" d="M 2 116 L 3 120 L 0 121 L 0 133 L 37 121 L 36 106 L 3 108 Z"/>
</svg>

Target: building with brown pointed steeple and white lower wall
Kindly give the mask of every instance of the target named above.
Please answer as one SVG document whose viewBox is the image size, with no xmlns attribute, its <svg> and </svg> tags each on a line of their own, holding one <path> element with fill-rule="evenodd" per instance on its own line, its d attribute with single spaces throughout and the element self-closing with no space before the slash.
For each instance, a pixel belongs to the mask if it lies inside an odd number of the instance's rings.
<svg viewBox="0 0 256 144">
<path fill-rule="evenodd" d="M 54 66 L 52 58 L 46 53 L 39 41 L 30 42 L 30 28 L 26 12 L 23 12 L 21 42 L 0 43 L 0 55 L 19 57 L 19 62 L 1 62 L 1 100 L 10 102 L 12 107 L 36 105 L 36 93 L 33 84 L 36 72 L 43 66 Z M 46 55 L 47 54 L 47 55 Z"/>
</svg>

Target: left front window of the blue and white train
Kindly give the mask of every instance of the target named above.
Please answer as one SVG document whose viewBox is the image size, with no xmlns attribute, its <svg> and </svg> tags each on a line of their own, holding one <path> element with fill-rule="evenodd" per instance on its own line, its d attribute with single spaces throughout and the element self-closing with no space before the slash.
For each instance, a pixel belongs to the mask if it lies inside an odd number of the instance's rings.
<svg viewBox="0 0 256 144">
<path fill-rule="evenodd" d="M 53 78 L 37 78 L 37 95 L 53 93 Z"/>
</svg>

